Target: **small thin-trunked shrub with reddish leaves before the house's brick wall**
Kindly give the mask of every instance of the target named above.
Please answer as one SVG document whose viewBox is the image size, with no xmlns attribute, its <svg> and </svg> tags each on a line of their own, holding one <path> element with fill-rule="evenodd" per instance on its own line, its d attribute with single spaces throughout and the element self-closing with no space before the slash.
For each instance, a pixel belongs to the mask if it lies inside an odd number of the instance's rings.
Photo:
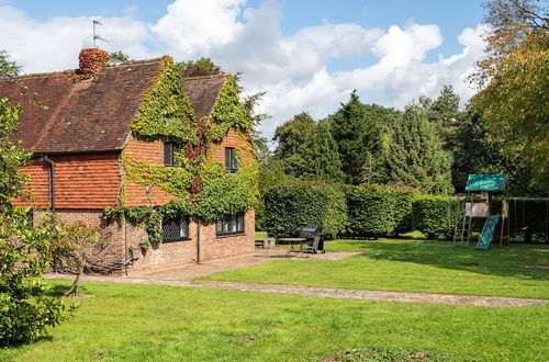
<svg viewBox="0 0 549 362">
<path fill-rule="evenodd" d="M 74 224 L 59 224 L 59 234 L 53 247 L 53 256 L 76 270 L 75 281 L 65 293 L 66 296 L 78 294 L 80 278 L 87 265 L 89 249 L 101 242 L 101 229 L 96 226 L 86 224 L 82 220 Z"/>
</svg>

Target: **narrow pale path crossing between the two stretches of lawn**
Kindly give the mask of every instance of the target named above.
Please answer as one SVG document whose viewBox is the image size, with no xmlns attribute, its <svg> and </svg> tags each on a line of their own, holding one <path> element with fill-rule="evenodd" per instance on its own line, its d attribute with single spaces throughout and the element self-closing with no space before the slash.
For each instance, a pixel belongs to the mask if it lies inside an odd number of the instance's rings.
<svg viewBox="0 0 549 362">
<path fill-rule="evenodd" d="M 51 279 L 66 279 L 71 275 L 48 274 Z M 83 280 L 111 283 L 137 283 L 156 284 L 187 287 L 210 287 L 217 290 L 233 290 L 243 292 L 278 293 L 304 296 L 323 296 L 333 298 L 366 299 L 379 302 L 408 302 L 408 303 L 438 303 L 453 305 L 472 305 L 482 307 L 518 307 L 527 305 L 549 304 L 549 299 L 528 299 L 509 298 L 497 296 L 471 296 L 471 295 L 450 295 L 450 294 L 430 294 L 430 293 L 411 293 L 411 292 L 384 292 L 384 291 L 361 291 L 343 290 L 315 286 L 293 286 L 293 285 L 273 285 L 256 283 L 231 283 L 231 282 L 204 282 L 204 281 L 175 281 L 156 280 L 152 278 L 111 278 L 111 276 L 83 276 Z"/>
</svg>

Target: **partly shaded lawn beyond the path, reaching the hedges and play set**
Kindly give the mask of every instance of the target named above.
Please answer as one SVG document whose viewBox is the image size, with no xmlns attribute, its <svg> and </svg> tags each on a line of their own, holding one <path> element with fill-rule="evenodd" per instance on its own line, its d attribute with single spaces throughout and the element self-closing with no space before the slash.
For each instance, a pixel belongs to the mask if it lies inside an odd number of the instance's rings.
<svg viewBox="0 0 549 362">
<path fill-rule="evenodd" d="M 205 280 L 326 287 L 549 298 L 549 246 L 488 251 L 428 240 L 334 240 L 326 250 L 363 252 L 338 261 L 280 260 Z"/>
</svg>

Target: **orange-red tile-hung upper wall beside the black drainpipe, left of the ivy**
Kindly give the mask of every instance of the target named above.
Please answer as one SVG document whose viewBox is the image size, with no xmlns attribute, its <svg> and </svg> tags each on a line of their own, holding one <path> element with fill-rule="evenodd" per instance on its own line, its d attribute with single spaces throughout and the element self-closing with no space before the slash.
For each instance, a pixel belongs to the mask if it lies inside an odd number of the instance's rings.
<svg viewBox="0 0 549 362">
<path fill-rule="evenodd" d="M 104 208 L 117 204 L 119 152 L 49 156 L 55 162 L 55 205 L 57 208 Z M 30 200 L 18 206 L 45 206 L 48 200 L 48 165 L 34 158 L 22 169 L 30 177 Z"/>
</svg>

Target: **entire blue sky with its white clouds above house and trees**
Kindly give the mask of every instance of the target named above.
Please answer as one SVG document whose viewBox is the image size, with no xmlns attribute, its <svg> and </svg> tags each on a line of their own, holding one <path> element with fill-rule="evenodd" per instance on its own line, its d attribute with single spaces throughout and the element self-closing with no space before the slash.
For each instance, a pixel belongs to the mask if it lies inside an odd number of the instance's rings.
<svg viewBox="0 0 549 362">
<path fill-rule="evenodd" d="M 75 67 L 99 19 L 107 50 L 141 59 L 211 57 L 267 90 L 273 128 L 307 111 L 323 117 L 357 89 L 363 102 L 402 108 L 452 84 L 482 56 L 481 0 L 0 0 L 0 38 L 24 71 Z M 169 7 L 169 8 L 168 8 Z"/>
</svg>

